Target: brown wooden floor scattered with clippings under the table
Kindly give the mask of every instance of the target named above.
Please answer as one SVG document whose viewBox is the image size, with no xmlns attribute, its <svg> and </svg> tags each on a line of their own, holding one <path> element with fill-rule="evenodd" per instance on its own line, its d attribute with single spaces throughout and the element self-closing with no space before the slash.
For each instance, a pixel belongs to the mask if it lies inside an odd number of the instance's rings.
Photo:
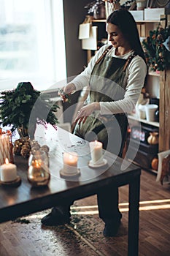
<svg viewBox="0 0 170 256">
<path fill-rule="evenodd" d="M 104 238 L 104 223 L 98 218 L 96 196 L 77 200 L 72 206 L 72 223 L 42 227 L 40 219 L 50 210 L 31 214 L 0 225 L 1 256 L 35 255 L 127 255 L 128 186 L 120 188 L 122 224 L 115 238 Z M 142 170 L 139 256 L 170 255 L 170 185 L 155 181 Z"/>
</svg>

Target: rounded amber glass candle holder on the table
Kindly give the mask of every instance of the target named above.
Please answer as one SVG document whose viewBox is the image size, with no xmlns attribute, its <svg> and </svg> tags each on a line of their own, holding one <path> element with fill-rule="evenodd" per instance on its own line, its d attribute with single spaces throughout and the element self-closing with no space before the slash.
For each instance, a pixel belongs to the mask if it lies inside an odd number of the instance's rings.
<svg viewBox="0 0 170 256">
<path fill-rule="evenodd" d="M 50 181 L 49 161 L 45 151 L 35 151 L 28 159 L 28 181 L 32 187 L 46 186 Z"/>
</svg>

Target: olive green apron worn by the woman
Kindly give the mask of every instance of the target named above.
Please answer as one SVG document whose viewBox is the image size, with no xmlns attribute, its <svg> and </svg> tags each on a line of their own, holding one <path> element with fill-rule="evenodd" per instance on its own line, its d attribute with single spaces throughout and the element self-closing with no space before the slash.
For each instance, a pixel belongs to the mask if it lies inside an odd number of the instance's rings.
<svg viewBox="0 0 170 256">
<path fill-rule="evenodd" d="M 127 85 L 125 68 L 133 57 L 131 55 L 127 60 L 105 55 L 96 61 L 90 75 L 88 103 L 123 99 Z M 127 124 L 125 113 L 101 116 L 95 111 L 84 124 L 76 124 L 74 134 L 88 141 L 101 141 L 105 149 L 121 156 Z"/>
</svg>

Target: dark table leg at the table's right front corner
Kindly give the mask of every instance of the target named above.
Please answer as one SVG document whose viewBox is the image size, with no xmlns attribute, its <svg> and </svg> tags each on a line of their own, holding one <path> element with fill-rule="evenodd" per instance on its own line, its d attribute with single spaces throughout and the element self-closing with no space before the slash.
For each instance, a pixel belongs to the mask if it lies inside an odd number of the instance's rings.
<svg viewBox="0 0 170 256">
<path fill-rule="evenodd" d="M 140 175 L 129 184 L 128 256 L 137 256 L 139 251 L 139 195 Z"/>
</svg>

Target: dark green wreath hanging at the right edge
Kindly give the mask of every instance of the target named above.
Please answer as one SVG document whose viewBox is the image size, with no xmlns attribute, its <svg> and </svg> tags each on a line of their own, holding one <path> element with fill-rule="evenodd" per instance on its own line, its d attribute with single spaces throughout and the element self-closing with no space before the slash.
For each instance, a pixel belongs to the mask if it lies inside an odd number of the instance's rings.
<svg viewBox="0 0 170 256">
<path fill-rule="evenodd" d="M 150 31 L 142 41 L 148 67 L 153 71 L 163 71 L 170 66 L 170 26 L 163 29 L 161 24 Z"/>
</svg>

